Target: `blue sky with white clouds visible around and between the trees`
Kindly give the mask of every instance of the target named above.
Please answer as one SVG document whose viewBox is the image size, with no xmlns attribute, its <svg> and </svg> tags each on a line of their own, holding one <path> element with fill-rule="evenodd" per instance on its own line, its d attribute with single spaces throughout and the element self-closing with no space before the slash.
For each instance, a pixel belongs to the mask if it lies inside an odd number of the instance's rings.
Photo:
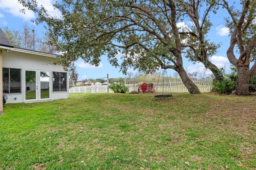
<svg viewBox="0 0 256 170">
<path fill-rule="evenodd" d="M 52 6 L 52 2 L 55 0 L 38 0 L 43 6 L 46 7 L 49 14 L 54 14 L 56 16 L 60 16 L 60 12 L 54 10 Z M 18 2 L 18 0 L 0 0 L 0 27 L 2 30 L 8 27 L 10 30 L 22 30 L 23 25 L 27 24 L 27 26 L 34 26 L 37 30 L 38 34 L 42 34 L 45 32 L 42 28 L 42 25 L 36 26 L 34 25 L 31 20 L 36 18 L 36 15 L 29 10 L 26 10 L 25 14 L 20 13 L 20 9 L 22 9 L 22 5 Z M 214 14 L 213 14 L 214 15 Z M 224 26 L 224 16 L 226 12 L 218 12 L 212 17 L 211 22 L 213 26 L 211 27 L 210 33 L 208 34 L 207 39 L 212 42 L 222 43 L 221 47 L 218 49 L 218 53 L 212 56 L 210 61 L 214 63 L 218 68 L 224 67 L 226 69 L 226 73 L 230 72 L 230 62 L 226 57 L 226 50 L 228 49 L 228 45 L 230 43 L 230 37 L 228 29 Z M 181 22 L 178 23 L 179 26 L 186 26 L 189 23 Z M 120 60 L 120 56 L 117 56 Z M 199 71 L 200 73 L 204 70 L 204 65 L 202 63 L 195 63 L 187 61 L 184 58 L 184 68 L 188 73 L 193 73 Z M 82 59 L 78 59 L 75 63 L 76 71 L 78 73 L 78 80 L 84 79 L 106 79 L 107 74 L 109 78 L 118 78 L 118 77 L 125 77 L 122 72 L 120 72 L 120 68 L 116 68 L 110 63 L 108 63 L 107 57 L 102 56 L 102 61 L 98 67 L 89 65 L 88 63 L 84 63 Z M 136 75 L 137 71 L 133 70 L 132 68 L 128 70 L 128 72 L 133 73 Z M 168 76 L 173 76 L 174 70 L 167 69 Z M 207 72 L 210 74 L 210 71 Z"/>
</svg>

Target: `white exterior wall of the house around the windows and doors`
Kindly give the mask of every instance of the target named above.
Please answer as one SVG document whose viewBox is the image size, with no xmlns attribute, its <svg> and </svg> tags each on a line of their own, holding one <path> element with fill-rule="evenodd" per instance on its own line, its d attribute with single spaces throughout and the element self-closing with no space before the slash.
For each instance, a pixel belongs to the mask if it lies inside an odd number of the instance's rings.
<svg viewBox="0 0 256 170">
<path fill-rule="evenodd" d="M 50 100 L 55 99 L 66 99 L 68 98 L 68 87 L 67 84 L 67 91 L 61 92 L 52 92 L 52 71 L 57 72 L 67 72 L 64 71 L 61 65 L 53 65 L 49 64 L 50 62 L 54 61 L 55 58 L 52 55 L 44 54 L 44 53 L 37 53 L 34 51 L 27 51 L 24 49 L 15 49 L 13 51 L 3 51 L 3 67 L 4 68 L 16 68 L 21 69 L 21 93 L 8 93 L 6 94 L 8 99 L 6 103 L 21 103 L 24 102 L 24 93 L 26 88 L 24 88 L 24 81 L 25 69 L 34 69 L 38 71 L 49 71 L 50 72 Z M 1 71 L 2 74 L 2 71 Z M 68 73 L 67 73 L 68 79 Z M 68 83 L 68 81 L 67 81 Z"/>
</svg>

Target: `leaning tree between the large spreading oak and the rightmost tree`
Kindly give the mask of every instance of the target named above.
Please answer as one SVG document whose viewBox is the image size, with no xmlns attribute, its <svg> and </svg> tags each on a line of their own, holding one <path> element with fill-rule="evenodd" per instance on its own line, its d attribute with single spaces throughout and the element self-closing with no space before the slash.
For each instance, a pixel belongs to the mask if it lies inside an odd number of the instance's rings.
<svg viewBox="0 0 256 170">
<path fill-rule="evenodd" d="M 222 82 L 224 76 L 220 69 L 210 61 L 210 57 L 216 54 L 220 44 L 206 40 L 207 34 L 212 27 L 209 14 L 216 14 L 216 4 L 210 0 L 177 0 L 177 9 L 182 20 L 188 18 L 190 26 L 180 29 L 184 55 L 193 62 L 201 62 L 207 69 L 212 71 L 217 82 Z M 203 8 L 204 6 L 204 8 Z M 205 9 L 205 11 L 202 11 Z"/>
</svg>

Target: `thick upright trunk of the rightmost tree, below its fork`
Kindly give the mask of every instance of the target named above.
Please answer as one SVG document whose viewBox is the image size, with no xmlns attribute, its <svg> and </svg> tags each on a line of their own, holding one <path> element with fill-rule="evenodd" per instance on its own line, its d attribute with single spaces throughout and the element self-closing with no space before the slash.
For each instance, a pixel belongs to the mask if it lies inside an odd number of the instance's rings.
<svg viewBox="0 0 256 170">
<path fill-rule="evenodd" d="M 236 95 L 250 95 L 250 67 L 249 65 L 238 65 L 237 67 L 238 80 L 236 83 Z"/>
</svg>

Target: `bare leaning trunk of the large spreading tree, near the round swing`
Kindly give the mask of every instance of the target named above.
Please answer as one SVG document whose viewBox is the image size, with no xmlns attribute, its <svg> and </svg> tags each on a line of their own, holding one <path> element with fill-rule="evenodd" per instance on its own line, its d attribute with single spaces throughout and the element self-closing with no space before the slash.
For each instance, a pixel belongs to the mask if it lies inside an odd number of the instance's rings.
<svg viewBox="0 0 256 170">
<path fill-rule="evenodd" d="M 186 73 L 186 70 L 182 66 L 176 67 L 176 71 L 179 73 L 180 78 L 182 79 L 182 82 L 187 87 L 190 94 L 200 94 L 201 93 L 200 90 L 198 89 L 198 87 L 192 82 L 192 80 L 190 80 L 190 78 L 188 77 L 188 75 Z"/>
</svg>

